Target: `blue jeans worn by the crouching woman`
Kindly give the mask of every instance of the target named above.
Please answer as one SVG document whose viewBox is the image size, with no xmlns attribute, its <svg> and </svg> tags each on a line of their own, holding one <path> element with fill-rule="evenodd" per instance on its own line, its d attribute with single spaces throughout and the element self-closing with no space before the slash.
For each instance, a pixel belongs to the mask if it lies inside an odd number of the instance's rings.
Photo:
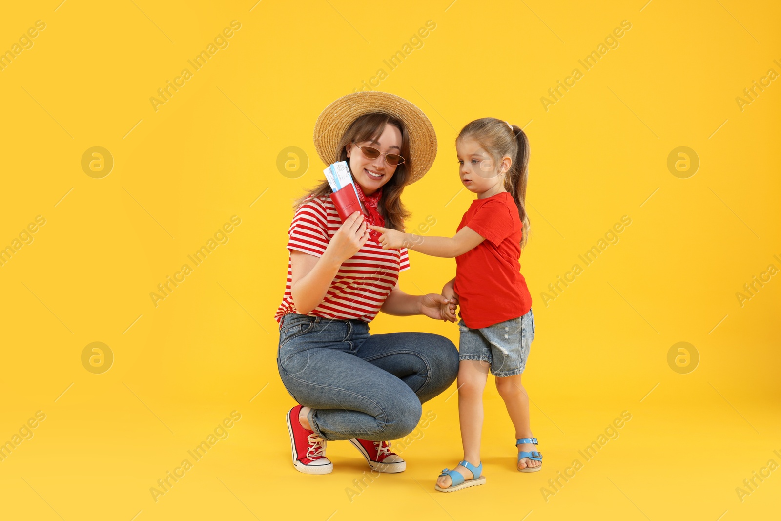
<svg viewBox="0 0 781 521">
<path fill-rule="evenodd" d="M 450 387 L 458 351 L 437 334 L 369 335 L 359 319 L 289 313 L 276 365 L 287 392 L 312 408 L 309 424 L 323 440 L 387 441 L 411 433 L 421 404 Z"/>
</svg>

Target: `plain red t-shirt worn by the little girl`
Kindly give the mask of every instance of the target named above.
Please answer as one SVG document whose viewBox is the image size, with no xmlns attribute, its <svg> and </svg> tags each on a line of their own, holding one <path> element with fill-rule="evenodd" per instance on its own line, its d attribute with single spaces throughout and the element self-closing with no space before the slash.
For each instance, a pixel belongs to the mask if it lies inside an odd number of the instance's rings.
<svg viewBox="0 0 781 521">
<path fill-rule="evenodd" d="M 455 258 L 454 291 L 466 327 L 479 329 L 526 315 L 532 297 L 521 275 L 523 225 L 509 192 L 475 199 L 458 224 L 485 237 Z"/>
</svg>

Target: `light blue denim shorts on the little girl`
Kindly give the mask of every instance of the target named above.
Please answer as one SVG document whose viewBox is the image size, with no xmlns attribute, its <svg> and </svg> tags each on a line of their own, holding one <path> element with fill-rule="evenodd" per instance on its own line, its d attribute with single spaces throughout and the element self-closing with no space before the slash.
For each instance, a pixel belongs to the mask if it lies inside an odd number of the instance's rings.
<svg viewBox="0 0 781 521">
<path fill-rule="evenodd" d="M 531 309 L 517 319 L 475 330 L 459 320 L 458 329 L 461 331 L 458 359 L 489 362 L 494 376 L 523 373 L 534 340 L 534 314 Z"/>
</svg>

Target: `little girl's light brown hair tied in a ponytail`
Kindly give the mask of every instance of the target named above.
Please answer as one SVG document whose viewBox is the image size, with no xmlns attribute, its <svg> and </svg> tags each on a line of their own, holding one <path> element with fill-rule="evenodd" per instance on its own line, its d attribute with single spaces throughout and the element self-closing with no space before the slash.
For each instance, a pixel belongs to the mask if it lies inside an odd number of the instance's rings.
<svg viewBox="0 0 781 521">
<path fill-rule="evenodd" d="M 467 123 L 455 138 L 455 142 L 472 139 L 483 147 L 498 166 L 501 159 L 508 155 L 512 166 L 505 177 L 505 190 L 510 192 L 518 206 L 518 215 L 523 225 L 521 249 L 529 239 L 529 214 L 526 213 L 526 183 L 529 180 L 529 138 L 516 125 L 496 118 L 481 118 Z"/>
</svg>

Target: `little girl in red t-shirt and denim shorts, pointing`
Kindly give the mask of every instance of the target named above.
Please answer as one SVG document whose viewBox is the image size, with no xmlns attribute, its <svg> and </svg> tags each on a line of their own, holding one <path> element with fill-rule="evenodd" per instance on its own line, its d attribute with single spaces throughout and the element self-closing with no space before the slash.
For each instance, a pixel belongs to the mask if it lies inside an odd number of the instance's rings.
<svg viewBox="0 0 781 521">
<path fill-rule="evenodd" d="M 464 459 L 455 469 L 442 471 L 435 486 L 442 492 L 485 483 L 480 431 L 489 368 L 515 426 L 518 469 L 537 472 L 542 466 L 529 422 L 529 397 L 521 384 L 534 338 L 532 300 L 519 263 L 529 232 L 529 140 L 515 125 L 483 118 L 467 124 L 455 146 L 461 182 L 477 198 L 454 237 L 422 237 L 369 226 L 383 234 L 384 249 L 455 257 L 455 279 L 445 284 L 442 294 L 448 298 L 443 312 L 449 319 L 455 321 L 455 306 L 461 306 L 458 414 Z"/>
</svg>

